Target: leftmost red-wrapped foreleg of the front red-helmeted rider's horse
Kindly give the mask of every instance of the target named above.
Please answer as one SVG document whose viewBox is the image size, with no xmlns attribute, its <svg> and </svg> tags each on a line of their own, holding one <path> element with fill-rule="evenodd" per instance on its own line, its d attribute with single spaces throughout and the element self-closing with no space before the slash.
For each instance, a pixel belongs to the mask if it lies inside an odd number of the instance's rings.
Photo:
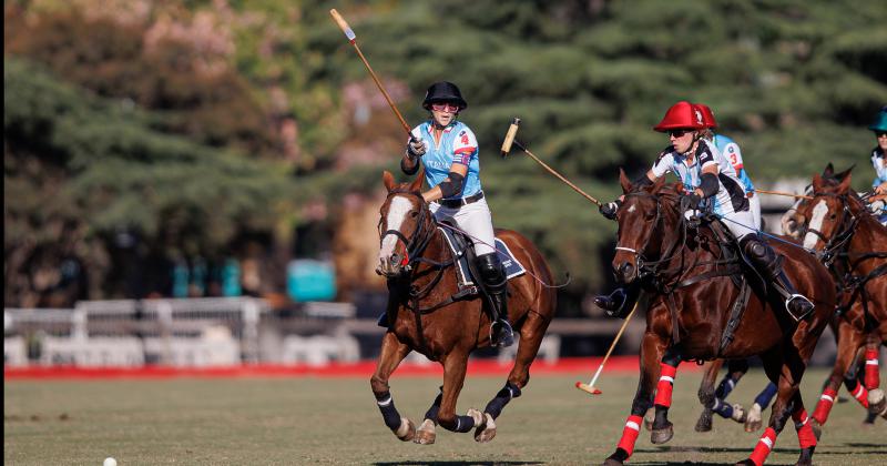
<svg viewBox="0 0 887 466">
<path fill-rule="evenodd" d="M 622 429 L 616 450 L 604 460 L 604 466 L 621 465 L 634 452 L 634 444 L 641 433 L 642 416 L 653 404 L 653 391 L 660 375 L 659 363 L 664 353 L 665 342 L 653 333 L 645 333 L 641 344 L 641 379 L 638 382 L 638 392 L 632 401 L 631 415 Z"/>
</svg>

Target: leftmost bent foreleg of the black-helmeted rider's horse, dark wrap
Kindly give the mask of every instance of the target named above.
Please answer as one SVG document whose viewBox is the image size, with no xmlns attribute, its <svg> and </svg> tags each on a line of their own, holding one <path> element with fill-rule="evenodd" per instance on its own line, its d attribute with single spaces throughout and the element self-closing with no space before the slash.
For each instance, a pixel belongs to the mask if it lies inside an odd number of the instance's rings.
<svg viewBox="0 0 887 466">
<path fill-rule="evenodd" d="M 369 385 L 373 387 L 373 394 L 376 395 L 376 404 L 379 405 L 385 425 L 404 442 L 412 439 L 416 435 L 416 426 L 412 421 L 400 417 L 397 412 L 395 401 L 389 392 L 388 378 L 409 352 L 409 346 L 400 343 L 394 333 L 386 333 L 381 340 L 381 352 L 379 361 L 376 363 L 376 372 L 369 378 Z"/>
</svg>

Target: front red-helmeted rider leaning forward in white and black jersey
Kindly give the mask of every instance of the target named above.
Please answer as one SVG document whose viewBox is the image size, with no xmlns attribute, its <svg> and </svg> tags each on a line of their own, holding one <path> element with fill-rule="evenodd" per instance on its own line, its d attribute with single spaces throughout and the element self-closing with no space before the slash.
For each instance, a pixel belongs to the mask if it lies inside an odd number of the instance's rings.
<svg viewBox="0 0 887 466">
<path fill-rule="evenodd" d="M 708 209 L 722 219 L 757 272 L 775 283 L 788 313 L 798 321 L 806 317 L 814 308 L 813 303 L 797 293 L 782 270 L 781 257 L 758 236 L 745 188 L 733 165 L 703 138 L 706 128 L 701 109 L 686 101 L 677 102 L 653 129 L 667 133 L 671 145 L 634 183 L 635 188 L 652 184 L 669 172 L 677 175 L 687 190 L 684 202 L 692 209 Z M 601 205 L 601 213 L 615 219 L 619 202 Z M 610 315 L 621 317 L 628 314 L 626 310 L 633 304 L 630 301 L 636 298 L 638 293 L 636 290 L 618 290 L 609 296 L 595 297 L 594 302 Z"/>
</svg>

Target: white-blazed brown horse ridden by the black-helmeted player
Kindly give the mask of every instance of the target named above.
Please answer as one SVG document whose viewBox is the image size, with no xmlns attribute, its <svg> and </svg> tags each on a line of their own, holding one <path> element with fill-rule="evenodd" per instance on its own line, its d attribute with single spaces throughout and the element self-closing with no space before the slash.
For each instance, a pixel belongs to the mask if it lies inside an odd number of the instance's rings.
<svg viewBox="0 0 887 466">
<path fill-rule="evenodd" d="M 438 424 L 452 432 L 473 428 L 476 440 L 489 442 L 496 435 L 495 419 L 527 386 L 530 364 L 554 315 L 555 293 L 546 285 L 551 272 L 529 240 L 513 231 L 496 231 L 528 272 L 508 283 L 508 317 L 520 342 L 504 387 L 485 412 L 471 408 L 466 416 L 457 415 L 468 355 L 489 346 L 490 318 L 483 300 L 458 295 L 452 253 L 419 191 L 424 178 L 420 172 L 412 183 L 397 184 L 389 172 L 383 175 L 388 196 L 379 211 L 380 243 L 389 235 L 398 240 L 392 251 L 383 247 L 379 253 L 377 272 L 388 278 L 389 326 L 370 385 L 385 424 L 404 442 L 432 444 Z M 411 351 L 443 366 L 443 386 L 418 432 L 400 417 L 388 387 L 388 378 Z"/>
</svg>

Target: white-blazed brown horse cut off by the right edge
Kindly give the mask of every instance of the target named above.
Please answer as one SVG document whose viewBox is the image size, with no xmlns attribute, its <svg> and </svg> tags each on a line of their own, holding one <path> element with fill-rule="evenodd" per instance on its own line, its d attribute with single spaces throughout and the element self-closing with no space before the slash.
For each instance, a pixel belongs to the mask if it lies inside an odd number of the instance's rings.
<svg viewBox="0 0 887 466">
<path fill-rule="evenodd" d="M 799 223 L 806 224 L 804 246 L 816 251 L 840 292 L 838 354 L 813 414 L 817 437 L 842 379 L 863 406 L 887 418 L 877 374 L 878 347 L 887 342 L 887 227 L 850 191 L 850 180 L 849 173 L 840 179 L 815 175 L 813 199 L 797 209 Z M 859 384 L 854 372 L 864 346 L 865 383 Z"/>
</svg>

